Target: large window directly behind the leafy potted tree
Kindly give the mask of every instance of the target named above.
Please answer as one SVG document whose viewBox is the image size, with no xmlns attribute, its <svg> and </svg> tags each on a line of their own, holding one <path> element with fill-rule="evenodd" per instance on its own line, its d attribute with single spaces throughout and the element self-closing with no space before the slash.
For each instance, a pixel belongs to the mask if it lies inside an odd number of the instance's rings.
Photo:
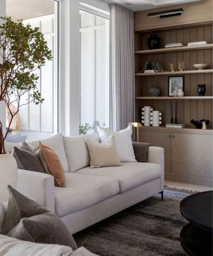
<svg viewBox="0 0 213 256">
<path fill-rule="evenodd" d="M 19 133 L 27 135 L 27 139 L 48 137 L 58 131 L 57 11 L 59 3 L 51 0 L 7 0 L 6 3 L 7 16 L 11 16 L 13 21 L 23 19 L 24 24 L 39 27 L 52 51 L 53 61 L 47 61 L 45 66 L 35 71 L 39 75 L 37 87 L 45 100 L 39 105 L 30 103 L 21 107 L 19 127 L 17 127 Z"/>
</svg>

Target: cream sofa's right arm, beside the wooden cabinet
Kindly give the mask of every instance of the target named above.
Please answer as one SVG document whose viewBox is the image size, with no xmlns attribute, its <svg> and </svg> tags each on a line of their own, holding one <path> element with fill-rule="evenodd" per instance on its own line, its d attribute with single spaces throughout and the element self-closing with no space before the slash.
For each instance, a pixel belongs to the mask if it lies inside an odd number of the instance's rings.
<svg viewBox="0 0 213 256">
<path fill-rule="evenodd" d="M 164 189 L 164 149 L 162 147 L 149 147 L 148 148 L 148 162 L 149 163 L 158 163 L 160 165 L 162 174 L 160 177 L 161 180 L 161 189 Z"/>
</svg>

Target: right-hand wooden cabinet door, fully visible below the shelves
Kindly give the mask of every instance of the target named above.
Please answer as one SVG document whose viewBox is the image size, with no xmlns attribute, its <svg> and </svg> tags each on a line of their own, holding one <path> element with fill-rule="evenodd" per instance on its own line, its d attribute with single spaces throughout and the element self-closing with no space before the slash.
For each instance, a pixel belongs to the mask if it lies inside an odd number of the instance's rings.
<svg viewBox="0 0 213 256">
<path fill-rule="evenodd" d="M 172 173 L 212 177 L 212 135 L 172 133 Z"/>
</svg>

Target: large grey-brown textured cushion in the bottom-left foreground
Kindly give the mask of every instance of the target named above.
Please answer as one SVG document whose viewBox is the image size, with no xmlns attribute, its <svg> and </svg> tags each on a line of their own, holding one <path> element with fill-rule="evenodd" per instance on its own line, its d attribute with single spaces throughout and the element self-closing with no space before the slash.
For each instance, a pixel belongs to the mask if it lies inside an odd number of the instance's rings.
<svg viewBox="0 0 213 256">
<path fill-rule="evenodd" d="M 75 241 L 61 219 L 11 186 L 3 223 L 3 235 L 35 243 L 67 245 L 77 249 Z"/>
</svg>

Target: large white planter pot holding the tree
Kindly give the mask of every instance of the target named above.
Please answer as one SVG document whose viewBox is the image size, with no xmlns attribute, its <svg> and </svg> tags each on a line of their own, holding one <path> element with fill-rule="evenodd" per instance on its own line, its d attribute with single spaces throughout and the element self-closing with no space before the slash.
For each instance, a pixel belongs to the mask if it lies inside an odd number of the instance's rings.
<svg viewBox="0 0 213 256">
<path fill-rule="evenodd" d="M 7 185 L 16 187 L 17 183 L 17 163 L 10 154 L 0 155 L 0 201 L 9 199 Z"/>
</svg>

